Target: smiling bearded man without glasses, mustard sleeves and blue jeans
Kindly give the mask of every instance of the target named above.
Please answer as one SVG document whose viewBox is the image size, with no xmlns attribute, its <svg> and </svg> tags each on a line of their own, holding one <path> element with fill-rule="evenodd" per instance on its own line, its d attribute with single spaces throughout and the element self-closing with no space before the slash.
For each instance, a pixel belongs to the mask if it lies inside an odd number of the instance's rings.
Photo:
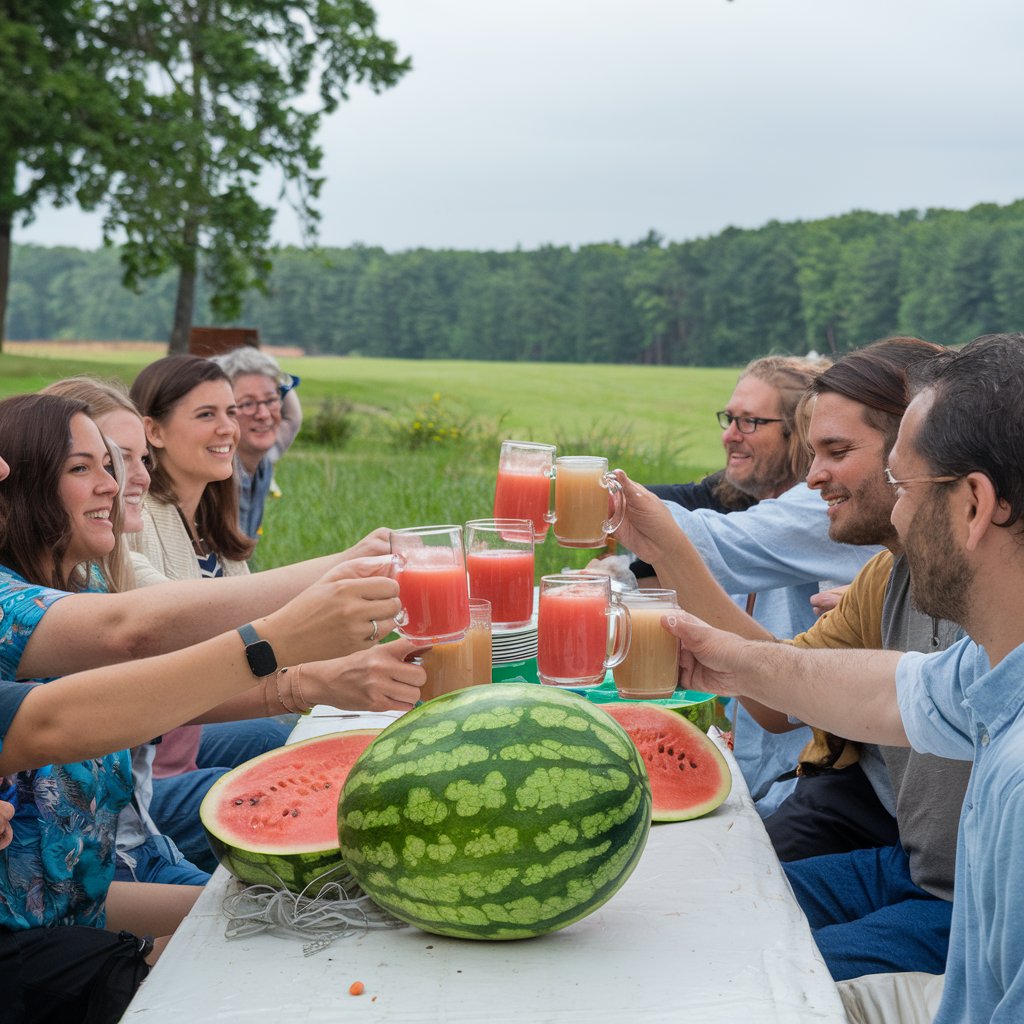
<svg viewBox="0 0 1024 1024">
<path fill-rule="evenodd" d="M 889 550 L 867 563 L 835 610 L 786 641 L 792 646 L 934 651 L 958 639 L 953 623 L 910 605 L 907 563 L 890 518 L 896 493 L 885 477 L 908 401 L 908 368 L 944 356 L 940 346 L 928 342 L 878 342 L 844 356 L 812 385 L 814 459 L 808 481 L 829 504 L 829 534 L 843 544 L 883 544 Z M 771 634 L 717 585 L 666 507 L 620 476 L 627 492 L 627 516 L 620 527 L 624 540 L 655 565 L 659 579 L 678 588 L 681 605 L 740 636 L 769 639 Z M 794 726 L 778 711 L 754 701 L 748 707 L 766 728 Z M 826 763 L 843 757 L 844 740 L 820 738 Z M 862 745 L 861 764 L 880 799 L 895 796 L 898 841 L 791 860 L 783 865 L 786 874 L 837 980 L 887 971 L 940 973 L 953 912 L 956 824 L 970 766 L 872 744 Z M 837 819 L 827 799 L 816 802 L 816 785 L 814 777 L 801 779 L 804 817 L 791 815 L 782 824 L 798 841 L 806 833 L 812 842 L 823 829 L 856 828 L 848 813 Z M 766 825 L 774 839 L 771 818 Z"/>
</svg>

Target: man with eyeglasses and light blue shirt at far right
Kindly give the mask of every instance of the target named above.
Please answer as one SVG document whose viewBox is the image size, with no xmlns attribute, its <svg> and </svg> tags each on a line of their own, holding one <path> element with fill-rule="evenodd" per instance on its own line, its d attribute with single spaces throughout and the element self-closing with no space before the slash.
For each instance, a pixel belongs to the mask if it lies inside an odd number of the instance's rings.
<svg viewBox="0 0 1024 1024">
<path fill-rule="evenodd" d="M 942 652 L 901 655 L 751 643 L 685 614 L 670 629 L 688 652 L 691 686 L 973 765 L 934 1020 L 1016 1022 L 1024 1020 L 1024 335 L 975 339 L 911 373 L 913 398 L 888 459 L 891 522 L 913 603 L 967 636 Z M 947 806 L 957 797 L 948 794 Z"/>
</svg>

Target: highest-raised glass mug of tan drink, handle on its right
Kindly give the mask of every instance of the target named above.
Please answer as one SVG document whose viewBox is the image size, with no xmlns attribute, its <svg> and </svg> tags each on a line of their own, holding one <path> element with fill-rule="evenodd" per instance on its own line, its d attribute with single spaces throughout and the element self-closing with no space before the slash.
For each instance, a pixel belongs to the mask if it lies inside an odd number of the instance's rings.
<svg viewBox="0 0 1024 1024">
<path fill-rule="evenodd" d="M 608 518 L 608 495 L 612 513 Z M 601 456 L 565 455 L 555 460 L 555 540 L 563 548 L 603 548 L 626 514 L 618 480 Z"/>
</svg>

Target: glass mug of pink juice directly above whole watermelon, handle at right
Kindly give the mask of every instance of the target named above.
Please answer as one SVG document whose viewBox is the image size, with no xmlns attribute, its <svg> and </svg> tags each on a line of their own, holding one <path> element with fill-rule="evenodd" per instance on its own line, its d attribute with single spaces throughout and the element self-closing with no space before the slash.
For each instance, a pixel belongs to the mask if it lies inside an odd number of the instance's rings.
<svg viewBox="0 0 1024 1024">
<path fill-rule="evenodd" d="M 608 577 L 541 577 L 537 672 L 542 683 L 596 686 L 629 648 L 629 612 L 612 601 Z"/>
</svg>

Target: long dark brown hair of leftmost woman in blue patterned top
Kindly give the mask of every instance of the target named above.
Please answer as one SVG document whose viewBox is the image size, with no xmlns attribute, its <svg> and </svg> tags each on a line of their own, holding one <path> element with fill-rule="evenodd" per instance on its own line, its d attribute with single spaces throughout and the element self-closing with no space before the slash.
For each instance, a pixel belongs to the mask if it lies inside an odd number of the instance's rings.
<svg viewBox="0 0 1024 1024">
<path fill-rule="evenodd" d="M 0 455 L 10 466 L 10 475 L 0 480 L 0 562 L 29 583 L 54 590 L 86 589 L 92 569 L 90 563 L 63 570 L 72 529 L 60 501 L 60 474 L 72 445 L 71 421 L 79 413 L 89 415 L 84 401 L 52 394 L 0 401 Z M 120 455 L 116 459 L 111 452 L 115 466 Z M 112 520 L 117 536 L 117 502 Z M 106 566 L 100 560 L 96 567 Z"/>
</svg>

